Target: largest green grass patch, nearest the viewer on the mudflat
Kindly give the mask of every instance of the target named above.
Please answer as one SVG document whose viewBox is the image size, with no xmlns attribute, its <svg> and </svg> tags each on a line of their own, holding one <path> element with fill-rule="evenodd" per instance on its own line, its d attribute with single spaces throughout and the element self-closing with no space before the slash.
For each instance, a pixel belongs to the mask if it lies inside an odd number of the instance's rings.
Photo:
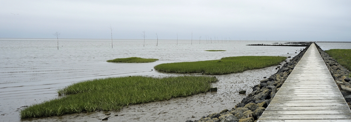
<svg viewBox="0 0 351 122">
<path fill-rule="evenodd" d="M 131 104 L 163 101 L 209 91 L 216 77 L 144 76 L 94 79 L 74 83 L 58 90 L 62 98 L 30 105 L 20 111 L 21 118 L 61 116 L 63 114 L 119 110 Z"/>
</svg>

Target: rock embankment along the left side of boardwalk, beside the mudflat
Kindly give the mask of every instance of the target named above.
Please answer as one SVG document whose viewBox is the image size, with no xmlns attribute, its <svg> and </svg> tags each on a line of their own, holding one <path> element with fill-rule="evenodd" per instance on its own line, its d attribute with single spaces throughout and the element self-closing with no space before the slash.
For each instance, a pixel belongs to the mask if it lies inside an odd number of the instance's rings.
<svg viewBox="0 0 351 122">
<path fill-rule="evenodd" d="M 284 62 L 283 66 L 279 66 L 277 73 L 253 86 L 253 91 L 234 108 L 224 109 L 219 113 L 203 116 L 199 120 L 187 120 L 186 122 L 256 122 L 308 47 L 290 59 L 290 62 Z"/>
</svg>

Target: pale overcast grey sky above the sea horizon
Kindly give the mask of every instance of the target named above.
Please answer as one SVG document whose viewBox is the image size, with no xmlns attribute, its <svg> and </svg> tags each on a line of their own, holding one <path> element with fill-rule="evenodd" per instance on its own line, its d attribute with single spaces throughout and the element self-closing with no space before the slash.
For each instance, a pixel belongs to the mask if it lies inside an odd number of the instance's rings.
<svg viewBox="0 0 351 122">
<path fill-rule="evenodd" d="M 0 0 L 0 38 L 351 41 L 350 0 Z"/>
</svg>

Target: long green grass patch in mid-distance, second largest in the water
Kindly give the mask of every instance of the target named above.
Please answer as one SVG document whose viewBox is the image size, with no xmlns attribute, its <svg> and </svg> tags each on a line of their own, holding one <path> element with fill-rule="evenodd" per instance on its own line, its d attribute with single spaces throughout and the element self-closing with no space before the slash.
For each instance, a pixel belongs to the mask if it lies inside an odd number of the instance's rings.
<svg viewBox="0 0 351 122">
<path fill-rule="evenodd" d="M 204 73 L 207 75 L 223 75 L 261 69 L 277 65 L 286 57 L 280 56 L 239 56 L 225 57 L 220 60 L 198 62 L 166 63 L 154 66 L 155 70 L 176 73 Z"/>
</svg>

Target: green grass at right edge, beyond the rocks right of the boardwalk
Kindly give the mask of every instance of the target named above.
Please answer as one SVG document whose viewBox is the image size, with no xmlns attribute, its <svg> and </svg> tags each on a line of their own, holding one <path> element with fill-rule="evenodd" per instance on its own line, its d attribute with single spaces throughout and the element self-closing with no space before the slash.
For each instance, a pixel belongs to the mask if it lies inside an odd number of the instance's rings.
<svg viewBox="0 0 351 122">
<path fill-rule="evenodd" d="M 351 49 L 331 49 L 325 52 L 335 58 L 340 65 L 351 71 Z"/>
</svg>

